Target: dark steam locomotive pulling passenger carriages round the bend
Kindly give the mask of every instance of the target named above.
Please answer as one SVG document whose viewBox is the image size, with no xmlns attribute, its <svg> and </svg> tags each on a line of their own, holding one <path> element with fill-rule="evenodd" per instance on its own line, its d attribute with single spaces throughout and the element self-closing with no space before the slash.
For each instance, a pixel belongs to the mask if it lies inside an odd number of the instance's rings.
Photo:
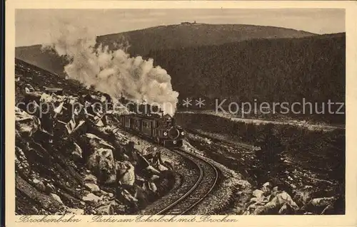
<svg viewBox="0 0 357 227">
<path fill-rule="evenodd" d="M 182 147 L 185 132 L 170 115 L 121 115 L 124 130 L 149 139 L 164 147 Z"/>
</svg>

